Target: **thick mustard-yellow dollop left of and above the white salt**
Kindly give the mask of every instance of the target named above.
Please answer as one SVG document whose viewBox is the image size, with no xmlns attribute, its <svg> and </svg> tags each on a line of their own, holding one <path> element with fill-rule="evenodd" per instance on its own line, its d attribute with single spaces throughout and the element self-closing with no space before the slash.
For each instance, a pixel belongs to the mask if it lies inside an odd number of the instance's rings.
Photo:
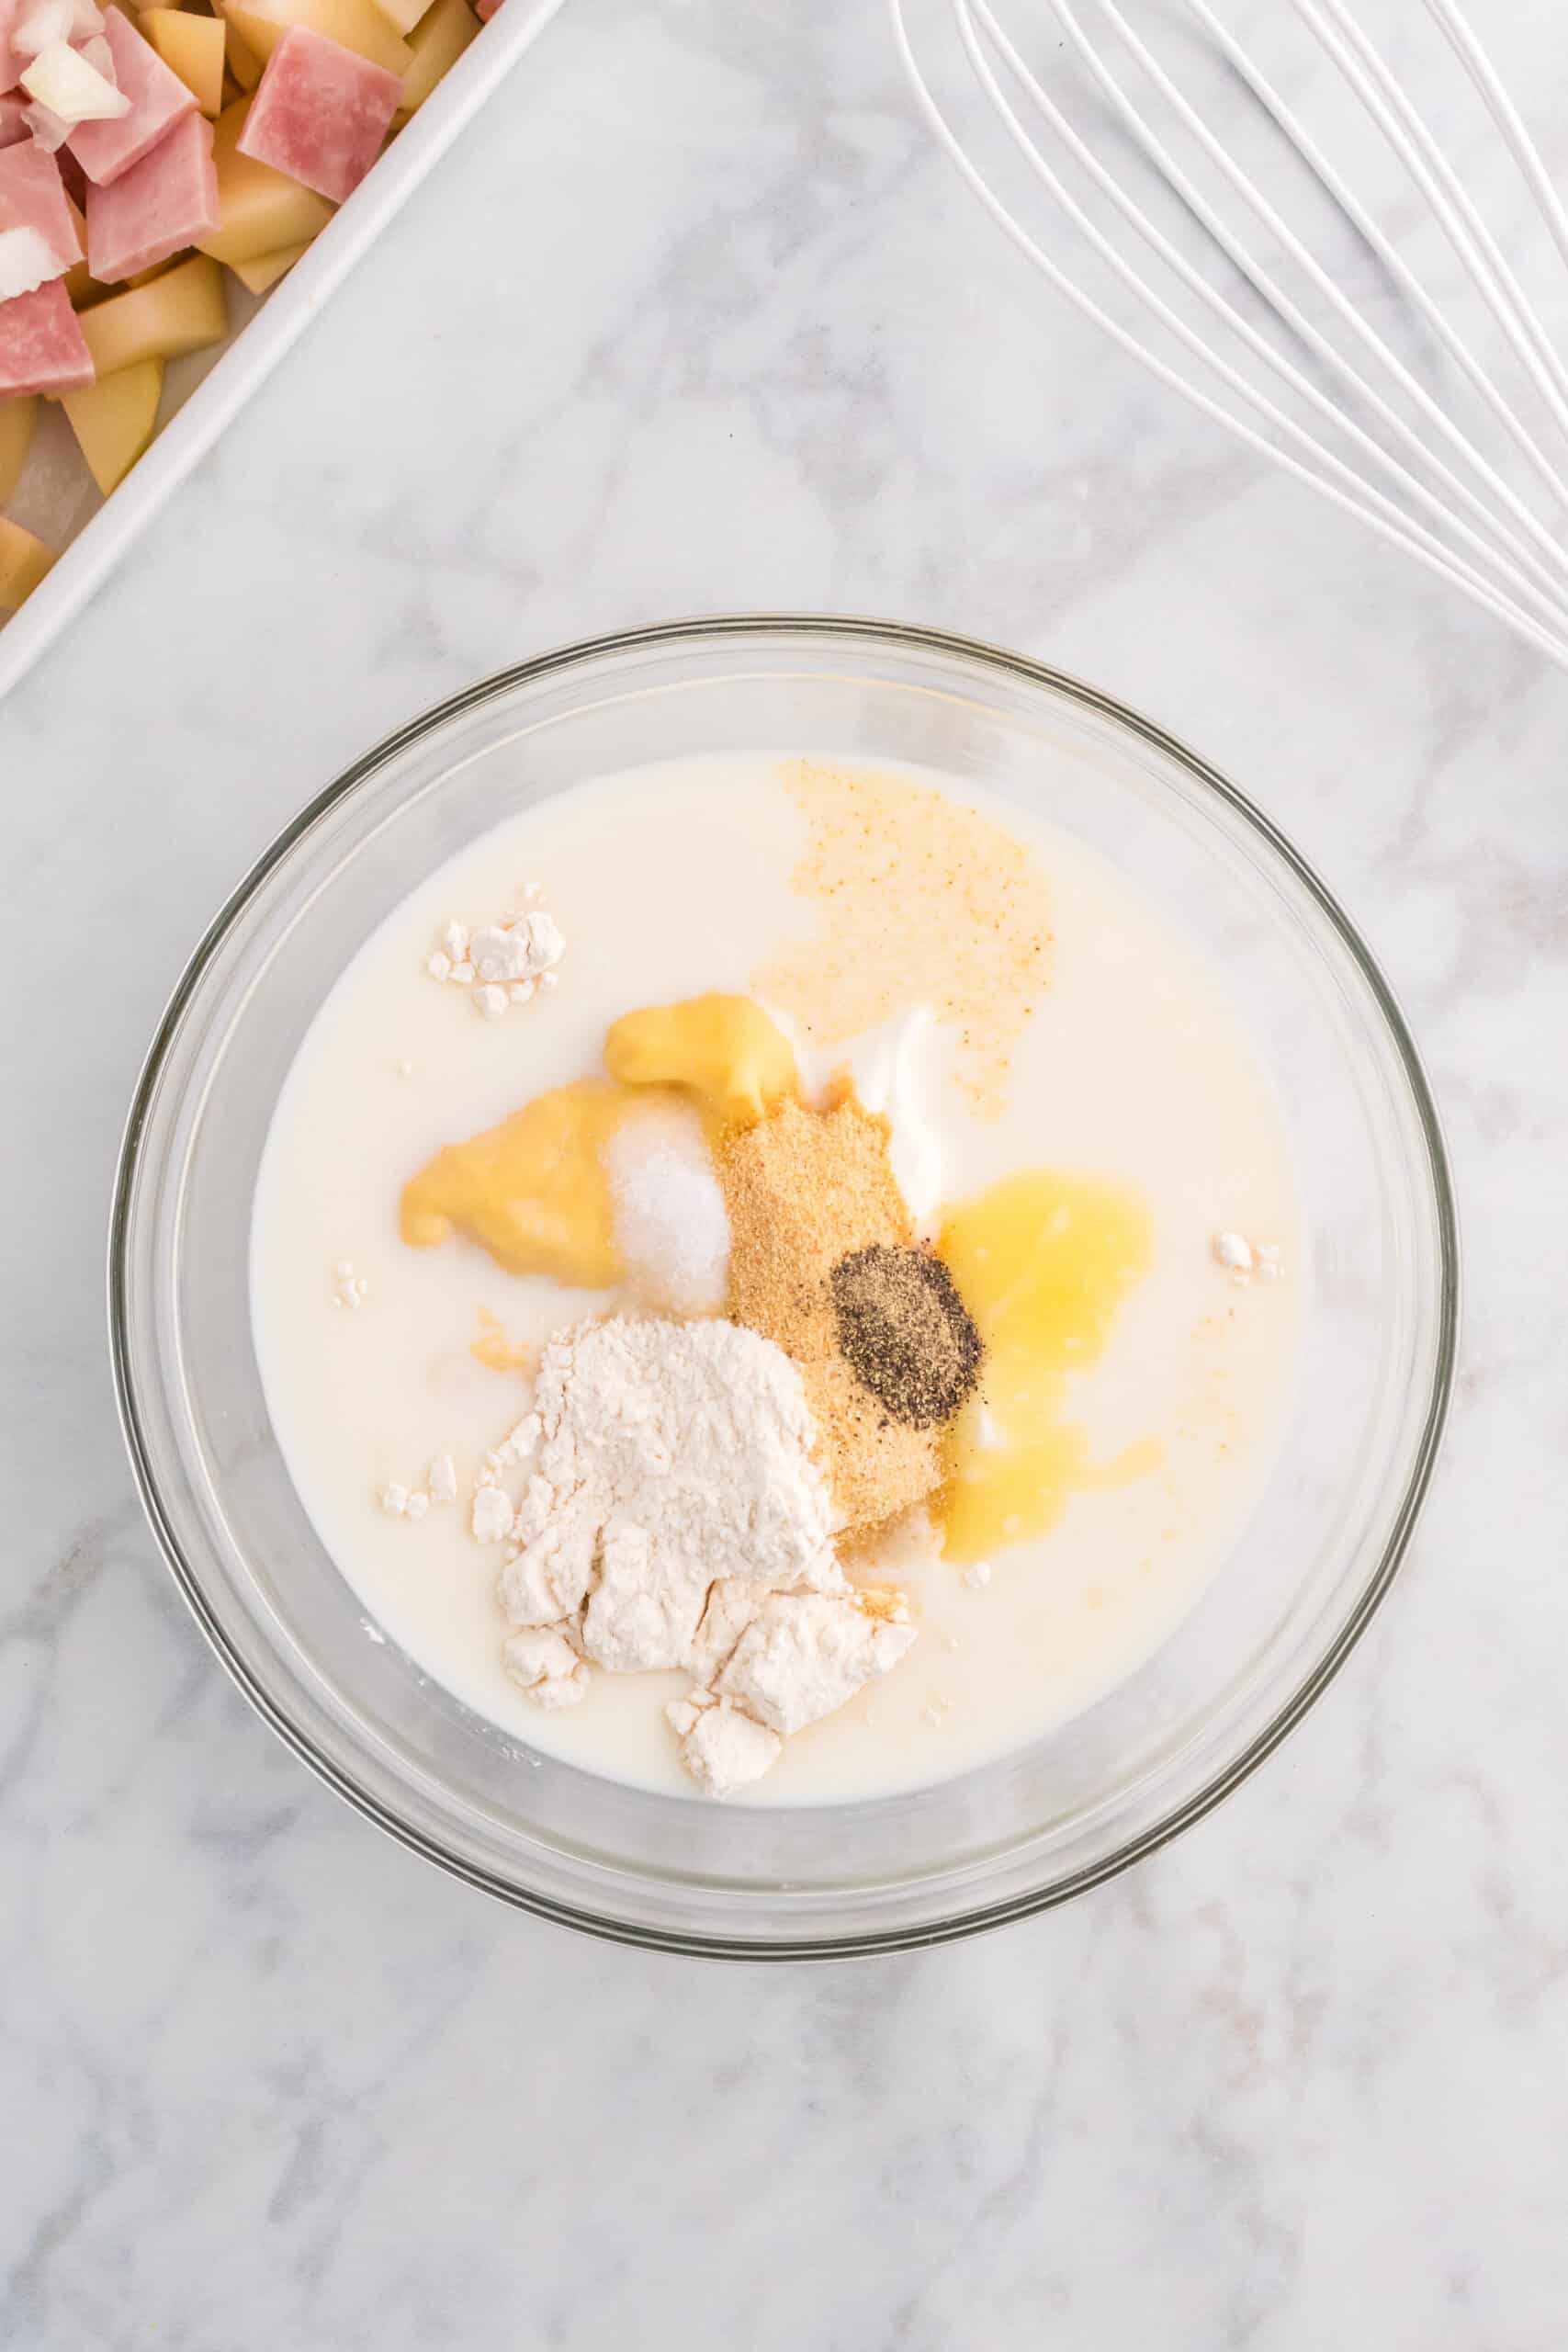
<svg viewBox="0 0 1568 2352">
<path fill-rule="evenodd" d="M 679 1089 L 712 1131 L 752 1127 L 797 1091 L 795 1051 L 750 997 L 625 1014 L 604 1040 L 604 1063 L 609 1077 L 555 1087 L 444 1145 L 402 1190 L 402 1240 L 435 1249 L 461 1232 L 512 1275 L 611 1289 L 625 1268 L 604 1148 L 621 1122 Z M 501 1369 L 487 1336 L 473 1352 Z"/>
</svg>

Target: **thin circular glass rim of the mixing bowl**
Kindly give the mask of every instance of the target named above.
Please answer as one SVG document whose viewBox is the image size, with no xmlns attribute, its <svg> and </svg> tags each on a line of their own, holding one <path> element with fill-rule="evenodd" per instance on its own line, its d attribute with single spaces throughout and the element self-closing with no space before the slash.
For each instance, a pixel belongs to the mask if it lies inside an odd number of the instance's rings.
<svg viewBox="0 0 1568 2352">
<path fill-rule="evenodd" d="M 1436 1254 L 1439 1254 L 1439 1296 L 1436 1296 L 1436 1319 L 1434 1319 L 1434 1350 L 1429 1371 L 1429 1392 L 1422 1416 L 1422 1428 L 1418 1444 L 1413 1449 L 1410 1468 L 1406 1475 L 1406 1486 L 1394 1512 L 1387 1543 L 1382 1555 L 1368 1576 L 1354 1609 L 1340 1625 L 1335 1639 L 1316 1665 L 1298 1682 L 1298 1686 L 1279 1703 L 1269 1722 L 1258 1731 L 1246 1748 L 1229 1759 L 1220 1771 L 1215 1771 L 1192 1797 L 1173 1806 L 1159 1820 L 1150 1823 L 1135 1837 L 1126 1839 L 1112 1853 L 1100 1856 L 1095 1863 L 1067 1872 L 1063 1879 L 1053 1879 L 1048 1886 L 1032 1889 L 1027 1893 L 1009 1896 L 997 1903 L 980 1903 L 966 1910 L 957 1910 L 945 1919 L 924 1926 L 898 1926 L 898 1929 L 867 1929 L 853 1933 L 835 1936 L 809 1936 L 790 1940 L 769 1938 L 752 1940 L 743 1933 L 705 1933 L 668 1926 L 644 1926 L 630 1919 L 616 1919 L 602 1912 L 578 1907 L 574 1903 L 557 1900 L 552 1896 L 538 1893 L 527 1886 L 517 1886 L 501 1875 L 480 1867 L 477 1863 L 449 1851 L 440 1839 L 416 1830 L 411 1823 L 402 1820 L 395 1811 L 381 1804 L 369 1790 L 360 1788 L 348 1771 L 343 1771 L 334 1759 L 320 1752 L 310 1736 L 292 1719 L 287 1705 L 249 1670 L 244 1658 L 233 1649 L 223 1628 L 219 1625 L 214 1611 L 207 1604 L 202 1581 L 186 1557 L 169 1515 L 165 1510 L 162 1496 L 158 1491 L 158 1479 L 153 1475 L 150 1449 L 143 1432 L 141 1406 L 136 1395 L 136 1374 L 132 1364 L 132 1341 L 129 1341 L 129 1232 L 132 1232 L 132 1204 L 136 1195 L 136 1178 L 141 1171 L 141 1145 L 148 1127 L 148 1115 L 158 1084 L 162 1080 L 165 1063 L 172 1054 L 174 1040 L 179 1037 L 186 1009 L 195 997 L 207 967 L 219 953 L 233 924 L 240 920 L 242 910 L 249 906 L 254 894 L 268 880 L 268 875 L 289 856 L 294 844 L 303 833 L 339 802 L 348 800 L 400 750 L 442 729 L 449 720 L 465 710 L 491 701 L 515 687 L 529 684 L 541 677 L 552 677 L 564 670 L 599 661 L 616 654 L 637 654 L 656 647 L 670 644 L 722 644 L 726 640 L 743 642 L 748 637 L 764 635 L 797 635 L 797 637 L 820 637 L 842 642 L 870 642 L 896 649 L 914 649 L 924 654 L 943 654 L 957 661 L 1001 670 L 1013 680 L 1023 680 L 1032 687 L 1044 687 L 1098 717 L 1112 720 L 1114 724 L 1128 729 L 1143 743 L 1152 746 L 1178 767 L 1187 771 L 1190 779 L 1201 783 L 1222 804 L 1227 804 L 1237 816 L 1241 816 L 1269 849 L 1286 863 L 1295 882 L 1307 891 L 1314 908 L 1324 915 L 1328 927 L 1338 934 L 1342 948 L 1349 953 L 1366 981 L 1366 988 L 1382 1016 L 1389 1042 L 1394 1044 L 1401 1075 L 1410 1089 L 1410 1103 L 1418 1115 L 1420 1141 L 1425 1148 L 1425 1174 L 1429 1185 L 1429 1204 L 1436 1228 Z M 261 1715 L 266 1724 L 301 1757 L 301 1762 L 336 1790 L 346 1804 L 350 1804 L 367 1820 L 374 1820 L 388 1837 L 395 1837 L 402 1846 L 421 1853 L 428 1863 L 447 1870 L 451 1877 L 477 1886 L 484 1893 L 496 1896 L 515 1910 L 529 1912 L 538 1919 L 550 1919 L 559 1926 L 574 1926 L 588 1936 L 597 1936 L 609 1943 L 632 1945 L 642 1950 L 677 1952 L 686 1957 L 708 1959 L 766 1959 L 766 1962 L 799 1962 L 799 1959 L 849 1959 L 870 1957 L 884 1952 L 919 1950 L 926 1945 L 957 1943 L 969 1936 L 985 1933 L 997 1926 L 1006 1926 L 1013 1919 L 1027 1919 L 1037 1912 L 1056 1910 L 1060 1903 L 1086 1893 L 1091 1886 L 1100 1886 L 1107 1879 L 1119 1877 L 1133 1863 L 1161 1846 L 1171 1844 L 1206 1813 L 1211 1813 L 1225 1797 L 1229 1797 L 1244 1780 L 1248 1780 L 1258 1766 L 1281 1745 L 1281 1740 L 1302 1722 L 1307 1710 L 1316 1705 L 1328 1684 L 1335 1679 L 1347 1656 L 1366 1632 L 1373 1613 L 1382 1604 L 1399 1564 L 1408 1550 L 1415 1522 L 1420 1517 L 1427 1489 L 1432 1484 L 1432 1470 L 1443 1439 L 1443 1428 L 1448 1421 L 1448 1406 L 1453 1397 L 1453 1376 L 1458 1359 L 1458 1331 L 1460 1331 L 1460 1230 L 1458 1209 L 1453 1190 L 1453 1171 L 1448 1162 L 1448 1148 L 1443 1143 L 1441 1117 L 1436 1110 L 1436 1098 L 1427 1080 L 1422 1056 L 1410 1035 L 1410 1025 L 1399 1007 L 1394 990 L 1378 960 L 1371 955 L 1361 934 L 1352 924 L 1349 915 L 1342 910 L 1338 898 L 1324 887 L 1307 858 L 1295 849 L 1295 844 L 1274 826 L 1262 809 L 1255 807 L 1227 776 L 1199 757 L 1178 736 L 1166 734 L 1164 727 L 1145 717 L 1140 710 L 1128 708 L 1117 696 L 1091 687 L 1086 680 L 1074 677 L 1067 670 L 1058 670 L 1044 661 L 1032 661 L 1025 654 L 994 647 L 980 637 L 964 637 L 952 630 L 922 628 L 905 621 L 877 621 L 853 614 L 722 614 L 722 616 L 691 616 L 679 621 L 658 621 L 642 628 L 611 630 L 599 637 L 581 637 L 562 647 L 552 647 L 529 661 L 512 663 L 503 670 L 494 670 L 458 694 L 433 703 L 428 710 L 418 713 L 407 724 L 393 729 L 371 750 L 353 760 L 324 790 L 320 790 L 306 807 L 268 842 L 261 856 L 244 873 L 240 884 L 223 901 L 207 931 L 190 953 L 169 1002 L 158 1021 L 153 1042 L 148 1047 L 146 1061 L 136 1077 L 132 1103 L 125 1120 L 125 1131 L 120 1138 L 120 1152 L 115 1160 L 115 1183 L 108 1218 L 108 1350 L 110 1371 L 115 1388 L 115 1411 L 120 1418 L 120 1432 L 132 1463 L 132 1477 L 136 1494 L 141 1496 L 141 1508 L 153 1529 L 153 1538 L 162 1559 L 174 1576 L 174 1583 L 186 1599 L 195 1623 L 207 1637 L 209 1649 L 216 1653 L 219 1663 L 228 1672 L 230 1682 L 244 1693 L 252 1708 Z"/>
</svg>

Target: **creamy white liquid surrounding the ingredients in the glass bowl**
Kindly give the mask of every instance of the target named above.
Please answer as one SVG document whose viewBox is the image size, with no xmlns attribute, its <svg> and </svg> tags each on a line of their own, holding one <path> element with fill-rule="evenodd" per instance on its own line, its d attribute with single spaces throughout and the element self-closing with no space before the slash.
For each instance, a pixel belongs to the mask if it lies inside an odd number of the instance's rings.
<svg viewBox="0 0 1568 2352">
<path fill-rule="evenodd" d="M 976 1120 L 940 1082 L 945 1195 L 1039 1164 L 1145 1195 L 1154 1268 L 1072 1402 L 1095 1458 L 1157 1437 L 1164 1463 L 1074 1496 L 1044 1541 L 994 1557 L 983 1590 L 947 1562 L 900 1562 L 919 1642 L 788 1740 L 748 1790 L 757 1802 L 945 1778 L 1133 1672 L 1234 1545 L 1279 1449 L 1300 1341 L 1284 1120 L 1218 978 L 1072 835 L 947 779 L 910 779 L 943 783 L 1025 840 L 1053 898 L 1053 978 L 1018 1047 L 1009 1110 Z M 480 1310 L 508 1338 L 536 1341 L 609 1298 L 505 1275 L 468 1242 L 407 1249 L 397 1197 L 442 1143 L 597 1070 L 618 1014 L 745 990 L 783 938 L 811 936 L 816 908 L 790 889 L 802 847 L 804 818 L 766 755 L 642 769 L 501 826 L 411 891 L 343 971 L 282 1089 L 256 1185 L 252 1310 L 268 1406 L 299 1496 L 369 1616 L 512 1738 L 684 1795 L 663 1719 L 684 1677 L 595 1672 L 583 1705 L 543 1715 L 501 1665 L 501 1555 L 468 1534 L 477 1458 L 529 1399 L 522 1374 L 470 1355 Z M 430 981 L 423 957 L 447 917 L 494 920 L 529 880 L 567 934 L 559 990 L 489 1023 L 463 990 Z M 936 1047 L 940 1068 L 940 1030 Z M 1225 1228 L 1276 1242 L 1284 1279 L 1234 1284 L 1211 1256 Z M 369 1284 L 353 1312 L 331 1308 L 343 1258 Z M 381 1484 L 423 1484 L 442 1451 L 463 1503 L 418 1524 L 388 1519 Z"/>
</svg>

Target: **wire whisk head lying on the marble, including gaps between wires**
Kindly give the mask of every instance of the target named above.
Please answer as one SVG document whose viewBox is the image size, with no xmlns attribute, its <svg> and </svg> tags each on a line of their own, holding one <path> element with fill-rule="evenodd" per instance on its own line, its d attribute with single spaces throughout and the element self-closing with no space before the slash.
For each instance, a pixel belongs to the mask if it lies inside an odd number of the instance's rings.
<svg viewBox="0 0 1568 2352">
<path fill-rule="evenodd" d="M 1269 0 L 1246 35 L 1241 0 L 889 5 L 926 122 L 1067 301 L 1568 668 L 1535 292 L 1568 212 L 1455 0 L 1394 0 L 1382 47 L 1361 0 Z"/>
</svg>

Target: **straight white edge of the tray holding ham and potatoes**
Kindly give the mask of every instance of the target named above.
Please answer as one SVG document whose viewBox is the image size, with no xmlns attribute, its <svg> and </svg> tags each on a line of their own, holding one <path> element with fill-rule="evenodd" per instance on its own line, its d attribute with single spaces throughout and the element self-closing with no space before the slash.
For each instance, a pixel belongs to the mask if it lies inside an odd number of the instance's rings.
<svg viewBox="0 0 1568 2352">
<path fill-rule="evenodd" d="M 310 325 L 331 292 L 343 285 L 360 254 L 381 235 L 404 198 L 440 162 L 496 82 L 531 47 L 559 7 L 562 0 L 501 0 L 491 21 L 480 28 L 480 38 L 468 45 L 310 252 L 235 332 L 219 362 L 169 419 L 148 454 L 103 501 L 101 510 L 82 524 L 21 612 L 5 621 L 0 628 L 0 701 L 108 579 L 165 499 L 212 449 L 256 386 L 273 374 L 284 350 Z M 230 287 L 240 294 L 235 280 Z M 244 299 L 230 303 L 230 310 L 244 318 Z"/>
</svg>

